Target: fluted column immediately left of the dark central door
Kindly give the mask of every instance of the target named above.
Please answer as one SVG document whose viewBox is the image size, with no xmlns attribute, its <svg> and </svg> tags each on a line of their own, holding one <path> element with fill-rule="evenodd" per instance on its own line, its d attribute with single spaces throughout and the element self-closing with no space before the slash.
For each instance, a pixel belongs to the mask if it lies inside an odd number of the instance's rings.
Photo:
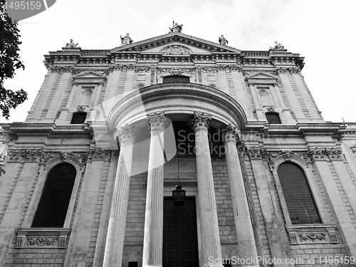
<svg viewBox="0 0 356 267">
<path fill-rule="evenodd" d="M 162 266 L 163 246 L 163 144 L 167 119 L 164 112 L 147 115 L 150 124 L 145 236 L 142 266 Z"/>
</svg>

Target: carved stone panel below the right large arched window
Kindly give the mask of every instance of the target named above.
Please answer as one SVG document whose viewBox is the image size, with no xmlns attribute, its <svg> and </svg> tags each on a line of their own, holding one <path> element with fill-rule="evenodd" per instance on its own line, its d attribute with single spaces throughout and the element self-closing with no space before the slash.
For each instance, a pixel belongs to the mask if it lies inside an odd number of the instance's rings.
<svg viewBox="0 0 356 267">
<path fill-rule="evenodd" d="M 337 236 L 333 224 L 286 225 L 291 245 L 335 244 Z"/>
</svg>

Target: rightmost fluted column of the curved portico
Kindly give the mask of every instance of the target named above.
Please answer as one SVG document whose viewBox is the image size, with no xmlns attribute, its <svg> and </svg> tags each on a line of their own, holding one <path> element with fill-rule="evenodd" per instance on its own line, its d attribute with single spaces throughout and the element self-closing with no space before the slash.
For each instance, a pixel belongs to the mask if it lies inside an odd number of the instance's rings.
<svg viewBox="0 0 356 267">
<path fill-rule="evenodd" d="M 239 258 L 256 259 L 257 250 L 253 236 L 251 216 L 248 211 L 244 177 L 242 176 L 239 154 L 236 149 L 236 139 L 241 137 L 241 132 L 232 125 L 224 128 L 223 132 Z M 250 262 L 253 263 L 253 261 Z M 258 264 L 246 264 L 245 266 L 258 266 Z"/>
</svg>

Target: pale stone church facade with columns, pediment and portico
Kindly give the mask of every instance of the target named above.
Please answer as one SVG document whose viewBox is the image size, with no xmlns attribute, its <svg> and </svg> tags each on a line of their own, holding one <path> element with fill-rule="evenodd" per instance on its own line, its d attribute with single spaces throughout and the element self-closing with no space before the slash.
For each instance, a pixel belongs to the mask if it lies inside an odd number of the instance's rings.
<svg viewBox="0 0 356 267">
<path fill-rule="evenodd" d="M 184 266 L 355 266 L 356 125 L 323 120 L 303 60 L 179 31 L 50 52 L 28 117 L 2 126 L 0 266 L 183 266 L 184 248 L 173 259 L 164 245 L 177 182 L 195 201 L 197 263 Z M 286 164 L 318 221 L 295 223 Z M 69 165 L 63 227 L 33 227 Z"/>
</svg>

